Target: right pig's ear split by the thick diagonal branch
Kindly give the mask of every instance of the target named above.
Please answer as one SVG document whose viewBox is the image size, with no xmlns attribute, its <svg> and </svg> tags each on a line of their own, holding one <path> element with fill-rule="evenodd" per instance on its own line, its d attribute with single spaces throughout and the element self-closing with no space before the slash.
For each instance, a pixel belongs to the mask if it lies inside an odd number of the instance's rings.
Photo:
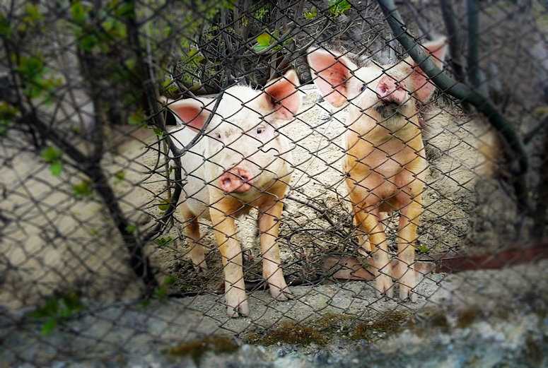
<svg viewBox="0 0 548 368">
<path fill-rule="evenodd" d="M 445 45 L 445 37 L 442 37 L 438 40 L 426 42 L 423 44 L 423 47 L 426 49 L 426 54 L 433 59 L 437 66 L 440 68 L 443 66 L 443 59 L 445 58 L 445 52 L 447 47 Z M 428 81 L 428 77 L 419 68 L 416 66 L 416 63 L 408 57 L 405 59 L 404 64 L 406 65 L 407 74 L 409 77 L 406 78 L 406 82 L 409 88 L 409 91 L 422 102 L 425 102 L 432 95 L 434 88 L 436 88 L 433 83 Z"/>
</svg>

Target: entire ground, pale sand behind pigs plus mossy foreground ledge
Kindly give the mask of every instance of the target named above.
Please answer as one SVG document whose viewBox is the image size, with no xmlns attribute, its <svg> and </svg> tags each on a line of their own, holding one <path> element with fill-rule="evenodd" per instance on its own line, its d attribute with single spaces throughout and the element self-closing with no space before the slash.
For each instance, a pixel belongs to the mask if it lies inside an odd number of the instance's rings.
<svg viewBox="0 0 548 368">
<path fill-rule="evenodd" d="M 240 238 L 249 256 L 245 280 L 252 288 L 247 318 L 226 316 L 220 256 L 208 223 L 202 225 L 211 268 L 207 276 L 192 268 L 179 215 L 162 235 L 166 244 L 148 244 L 161 283 L 170 280 L 163 284 L 170 297 L 156 295 L 143 305 L 136 301 L 140 284 L 127 268 L 127 254 L 105 220 L 102 204 L 96 196 L 75 198 L 72 193 L 83 178 L 69 167 L 52 177 L 33 153 L 17 152 L 15 144 L 2 147 L 11 160 L 0 169 L 7 198 L 0 208 L 17 220 L 8 222 L 0 244 L 1 367 L 548 364 L 546 261 L 499 271 L 426 275 L 416 304 L 378 298 L 372 283 L 325 278 L 322 256 L 356 255 L 348 239 L 335 235 L 317 212 L 327 208 L 337 230 L 351 232 L 339 169 L 344 112 L 332 116 L 313 86 L 303 86 L 303 93 L 301 114 L 284 129 L 295 145 L 295 172 L 279 239 L 296 299 L 276 302 L 262 289 L 255 219 L 253 214 L 241 218 Z M 497 150 L 490 146 L 495 141 L 491 132 L 441 101 L 425 107 L 423 117 L 430 169 L 419 230 L 421 253 L 503 249 L 513 239 L 515 208 L 505 184 L 492 175 Z M 132 136 L 104 164 L 112 172 L 122 209 L 136 231 L 145 231 L 161 213 L 161 198 L 169 194 L 165 177 L 155 172 L 163 163 L 161 146 L 146 129 Z M 486 160 L 480 150 L 495 160 Z M 117 172 L 124 172 L 123 178 Z M 392 244 L 396 221 L 394 215 L 385 220 Z M 60 319 L 42 336 L 46 322 L 29 319 L 25 312 L 52 292 L 63 295 L 66 290 L 78 290 L 83 311 Z M 489 352 L 483 352 L 487 345 Z M 440 355 L 441 350 L 447 354 Z"/>
</svg>

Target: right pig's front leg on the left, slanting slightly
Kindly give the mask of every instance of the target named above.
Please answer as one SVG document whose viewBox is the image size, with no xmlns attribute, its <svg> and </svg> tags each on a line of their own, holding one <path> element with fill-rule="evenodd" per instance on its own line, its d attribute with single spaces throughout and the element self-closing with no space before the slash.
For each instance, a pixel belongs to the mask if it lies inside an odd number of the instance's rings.
<svg viewBox="0 0 548 368">
<path fill-rule="evenodd" d="M 388 245 L 383 226 L 379 221 L 378 208 L 365 210 L 356 208 L 354 216 L 359 230 L 368 234 L 369 246 L 373 256 L 371 266 L 375 275 L 377 290 L 387 297 L 394 297 L 394 288 L 392 287 L 392 266 L 388 255 Z M 366 247 L 362 243 L 362 247 Z M 363 249 L 366 251 L 367 249 Z"/>
</svg>

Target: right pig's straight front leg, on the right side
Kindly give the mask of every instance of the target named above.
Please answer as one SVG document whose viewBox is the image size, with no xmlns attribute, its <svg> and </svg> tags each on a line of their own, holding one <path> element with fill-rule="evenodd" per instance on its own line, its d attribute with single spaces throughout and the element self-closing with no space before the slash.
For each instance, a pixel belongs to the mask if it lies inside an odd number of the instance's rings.
<svg viewBox="0 0 548 368">
<path fill-rule="evenodd" d="M 416 196 L 407 206 L 400 208 L 398 225 L 397 259 L 394 276 L 400 283 L 400 299 L 416 302 L 418 295 L 413 292 L 416 286 L 414 269 L 416 227 L 422 213 L 421 196 Z"/>
</svg>

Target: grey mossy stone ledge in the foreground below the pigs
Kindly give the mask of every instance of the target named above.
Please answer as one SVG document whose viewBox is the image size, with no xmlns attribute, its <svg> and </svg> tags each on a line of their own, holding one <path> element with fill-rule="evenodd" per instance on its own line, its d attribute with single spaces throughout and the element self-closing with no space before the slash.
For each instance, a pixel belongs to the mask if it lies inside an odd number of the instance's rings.
<svg viewBox="0 0 548 368">
<path fill-rule="evenodd" d="M 363 282 L 291 287 L 289 302 L 257 291 L 239 319 L 212 294 L 86 300 L 48 336 L 4 314 L 0 367 L 547 367 L 547 267 L 430 275 L 415 304 Z"/>
</svg>

